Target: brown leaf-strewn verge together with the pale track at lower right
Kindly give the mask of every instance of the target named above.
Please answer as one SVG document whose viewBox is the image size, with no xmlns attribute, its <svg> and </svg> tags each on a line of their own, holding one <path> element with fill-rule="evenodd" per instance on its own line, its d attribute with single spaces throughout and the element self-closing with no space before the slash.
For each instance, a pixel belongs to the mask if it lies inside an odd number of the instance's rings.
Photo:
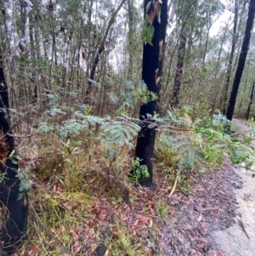
<svg viewBox="0 0 255 256">
<path fill-rule="evenodd" d="M 195 175 L 191 195 L 175 193 L 169 200 L 173 214 L 164 219 L 158 253 L 255 255 L 254 169 L 246 171 L 227 160 L 218 171 Z"/>
</svg>

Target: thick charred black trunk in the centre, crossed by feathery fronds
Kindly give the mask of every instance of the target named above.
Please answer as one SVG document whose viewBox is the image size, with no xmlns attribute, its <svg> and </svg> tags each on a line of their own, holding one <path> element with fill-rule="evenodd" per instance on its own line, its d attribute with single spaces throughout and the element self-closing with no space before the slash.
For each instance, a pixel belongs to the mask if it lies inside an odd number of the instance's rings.
<svg viewBox="0 0 255 256">
<path fill-rule="evenodd" d="M 150 0 L 144 0 L 144 14 L 146 5 L 149 2 Z M 161 23 L 158 22 L 158 18 L 154 15 L 154 12 L 156 12 L 158 8 L 161 9 Z M 162 1 L 162 3 L 159 3 L 157 0 L 152 0 L 148 14 L 150 17 L 154 17 L 152 26 L 154 26 L 155 31 L 152 38 L 152 46 L 149 43 L 144 44 L 142 79 L 147 85 L 147 88 L 159 97 L 163 65 L 163 48 L 167 30 L 167 0 Z M 140 120 L 150 121 L 150 117 L 147 115 L 153 116 L 155 112 L 158 112 L 158 100 L 152 100 L 147 104 L 141 105 L 139 118 Z M 144 177 L 142 175 L 139 179 L 139 185 L 152 185 L 152 157 L 154 154 L 155 137 L 156 129 L 149 128 L 148 124 L 144 123 L 137 139 L 135 156 L 141 159 L 141 165 L 145 165 L 148 168 L 150 177 Z"/>
</svg>

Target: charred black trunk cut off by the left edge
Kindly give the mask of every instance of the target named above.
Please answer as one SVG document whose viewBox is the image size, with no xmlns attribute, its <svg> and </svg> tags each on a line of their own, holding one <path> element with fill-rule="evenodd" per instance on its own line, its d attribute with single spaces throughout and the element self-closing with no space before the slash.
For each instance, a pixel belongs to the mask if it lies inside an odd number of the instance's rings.
<svg viewBox="0 0 255 256">
<path fill-rule="evenodd" d="M 0 141 L 0 172 L 5 174 L 3 182 L 0 183 L 0 205 L 4 213 L 0 253 L 10 255 L 26 238 L 28 198 L 25 195 L 18 200 L 20 179 L 16 178 L 16 174 L 19 165 L 13 154 L 14 139 L 9 135 L 11 132 L 8 117 L 8 85 L 3 74 L 2 56 L 0 56 L 0 130 L 3 138 Z"/>
</svg>

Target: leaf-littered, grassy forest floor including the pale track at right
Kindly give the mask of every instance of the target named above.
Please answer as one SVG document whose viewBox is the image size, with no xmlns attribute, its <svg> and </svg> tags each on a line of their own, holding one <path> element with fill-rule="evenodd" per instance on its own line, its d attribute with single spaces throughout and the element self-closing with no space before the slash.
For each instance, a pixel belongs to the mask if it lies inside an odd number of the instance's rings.
<svg viewBox="0 0 255 256">
<path fill-rule="evenodd" d="M 122 181 L 132 156 L 115 174 L 95 149 L 90 168 L 89 157 L 77 156 L 45 180 L 31 176 L 29 239 L 15 256 L 255 255 L 255 171 L 226 156 L 219 169 L 194 172 L 186 185 L 179 180 L 170 196 L 161 165 L 152 189 L 133 186 Z"/>
</svg>

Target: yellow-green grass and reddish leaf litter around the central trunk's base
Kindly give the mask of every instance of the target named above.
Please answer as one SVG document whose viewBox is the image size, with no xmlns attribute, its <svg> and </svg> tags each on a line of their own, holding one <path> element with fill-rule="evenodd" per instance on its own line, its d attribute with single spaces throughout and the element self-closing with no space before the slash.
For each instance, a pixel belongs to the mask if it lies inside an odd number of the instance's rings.
<svg viewBox="0 0 255 256">
<path fill-rule="evenodd" d="M 156 143 L 155 192 L 128 183 L 133 149 L 122 146 L 112 157 L 111 145 L 80 138 L 64 142 L 52 133 L 40 135 L 40 145 L 20 147 L 32 190 L 29 240 L 18 255 L 95 255 L 102 244 L 105 256 L 160 255 L 158 234 L 171 214 L 167 196 L 180 156 Z M 189 192 L 186 178 L 179 175 L 179 191 Z"/>
</svg>

